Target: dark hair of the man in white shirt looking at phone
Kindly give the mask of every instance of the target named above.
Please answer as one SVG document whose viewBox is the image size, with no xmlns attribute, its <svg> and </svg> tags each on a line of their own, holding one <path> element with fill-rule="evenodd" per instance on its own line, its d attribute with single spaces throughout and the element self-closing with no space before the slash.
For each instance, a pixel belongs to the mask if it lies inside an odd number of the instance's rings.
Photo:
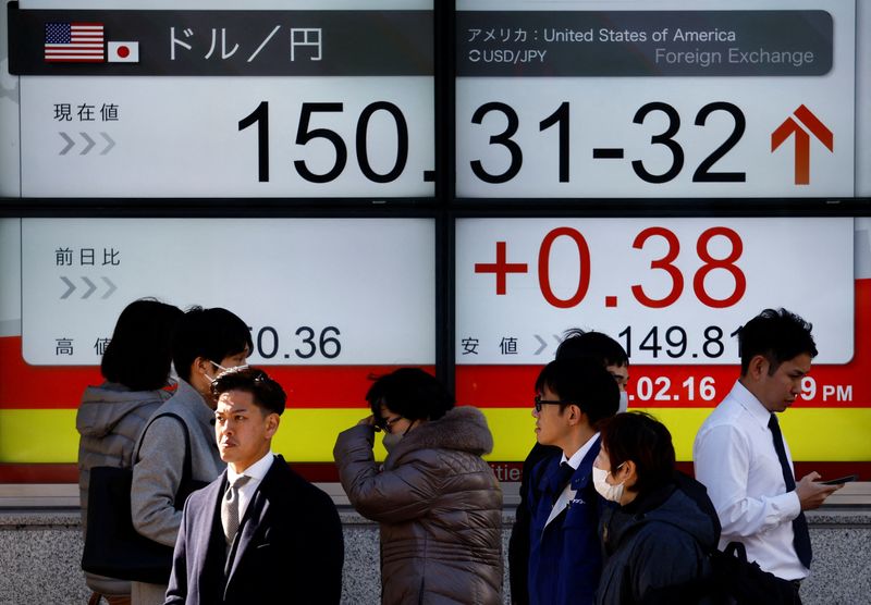
<svg viewBox="0 0 871 605">
<path fill-rule="evenodd" d="M 781 363 L 801 354 L 817 357 L 817 345 L 810 331 L 813 326 L 786 309 L 765 309 L 748 321 L 738 332 L 741 351 L 741 375 L 747 374 L 750 360 L 757 355 L 769 361 L 773 375 Z"/>
</svg>

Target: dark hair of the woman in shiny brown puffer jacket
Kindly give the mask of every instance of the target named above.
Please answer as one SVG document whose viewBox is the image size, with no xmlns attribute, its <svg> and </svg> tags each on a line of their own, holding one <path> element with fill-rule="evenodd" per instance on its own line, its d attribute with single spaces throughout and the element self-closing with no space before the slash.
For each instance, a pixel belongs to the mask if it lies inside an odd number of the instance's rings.
<svg viewBox="0 0 871 605">
<path fill-rule="evenodd" d="M 613 382 L 613 379 L 612 379 Z M 419 368 L 400 368 L 376 379 L 366 393 L 376 421 L 381 404 L 408 420 L 438 420 L 454 407 L 454 396 L 436 376 Z"/>
</svg>

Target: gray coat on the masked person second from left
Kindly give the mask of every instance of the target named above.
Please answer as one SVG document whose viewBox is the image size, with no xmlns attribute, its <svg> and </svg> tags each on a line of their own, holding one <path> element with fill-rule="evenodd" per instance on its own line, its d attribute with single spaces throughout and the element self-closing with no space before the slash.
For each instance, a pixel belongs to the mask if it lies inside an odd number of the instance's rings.
<svg viewBox="0 0 871 605">
<path fill-rule="evenodd" d="M 187 382 L 155 416 L 171 411 L 184 419 L 191 435 L 192 479 L 211 482 L 226 465 L 214 440 L 214 412 Z M 175 545 L 182 511 L 175 510 L 175 493 L 182 482 L 185 428 L 175 418 L 158 418 L 142 435 L 139 456 L 133 467 L 131 513 L 136 531 L 167 546 Z"/>
</svg>

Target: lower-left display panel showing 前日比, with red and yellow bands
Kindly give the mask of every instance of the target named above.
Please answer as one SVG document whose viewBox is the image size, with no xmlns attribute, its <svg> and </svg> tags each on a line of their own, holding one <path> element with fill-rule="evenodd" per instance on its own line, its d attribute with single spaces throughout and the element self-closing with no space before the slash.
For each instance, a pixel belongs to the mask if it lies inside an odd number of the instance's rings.
<svg viewBox="0 0 871 605">
<path fill-rule="evenodd" d="M 291 460 L 332 461 L 371 374 L 436 363 L 433 219 L 0 219 L 0 462 L 75 462 L 82 392 L 146 296 L 248 323 Z"/>
</svg>

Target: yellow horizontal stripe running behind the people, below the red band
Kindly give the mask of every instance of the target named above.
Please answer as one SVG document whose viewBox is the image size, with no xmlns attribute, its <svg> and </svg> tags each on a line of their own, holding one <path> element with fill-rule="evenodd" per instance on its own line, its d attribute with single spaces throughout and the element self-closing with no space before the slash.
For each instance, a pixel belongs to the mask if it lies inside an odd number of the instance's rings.
<svg viewBox="0 0 871 605">
<path fill-rule="evenodd" d="M 678 460 L 692 458 L 692 440 L 709 409 L 651 408 L 649 411 L 672 432 Z M 490 460 L 520 461 L 536 441 L 528 409 L 483 410 L 493 431 L 495 447 Z M 0 410 L 0 462 L 75 462 L 78 433 L 72 409 Z M 289 460 L 331 462 L 340 431 L 366 416 L 359 409 L 289 409 L 272 442 Z M 781 425 L 795 460 L 871 461 L 871 408 L 790 409 Z M 376 456 L 384 450 L 376 439 Z"/>
</svg>

